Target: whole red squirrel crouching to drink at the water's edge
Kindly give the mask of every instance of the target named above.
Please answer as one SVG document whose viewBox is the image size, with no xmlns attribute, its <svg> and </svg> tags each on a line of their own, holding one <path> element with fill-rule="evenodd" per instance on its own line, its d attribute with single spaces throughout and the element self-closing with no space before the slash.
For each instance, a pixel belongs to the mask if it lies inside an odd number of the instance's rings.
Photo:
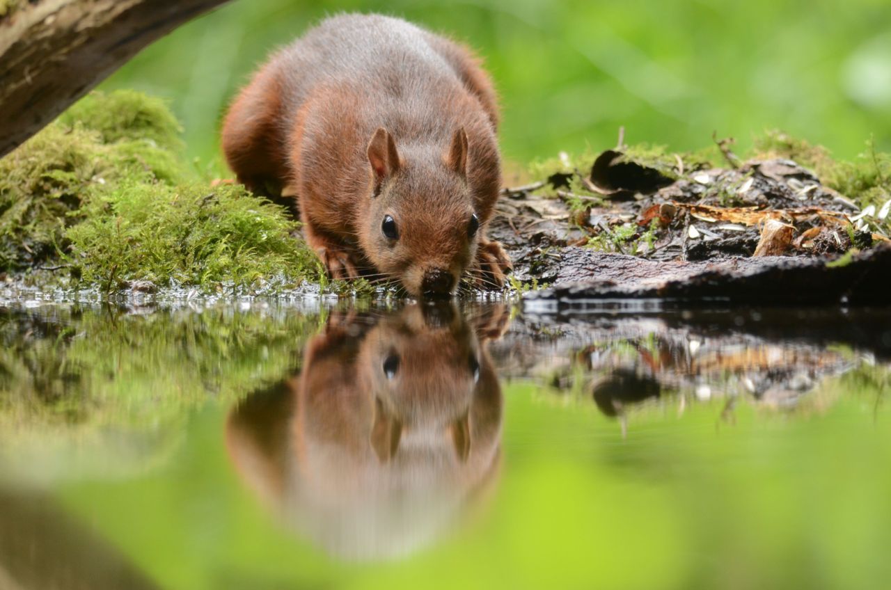
<svg viewBox="0 0 891 590">
<path fill-rule="evenodd" d="M 467 273 L 500 288 L 486 238 L 501 185 L 498 108 L 478 58 L 380 15 L 323 20 L 274 53 L 226 114 L 239 182 L 296 195 L 307 243 L 335 279 L 397 279 L 450 295 Z"/>
</svg>

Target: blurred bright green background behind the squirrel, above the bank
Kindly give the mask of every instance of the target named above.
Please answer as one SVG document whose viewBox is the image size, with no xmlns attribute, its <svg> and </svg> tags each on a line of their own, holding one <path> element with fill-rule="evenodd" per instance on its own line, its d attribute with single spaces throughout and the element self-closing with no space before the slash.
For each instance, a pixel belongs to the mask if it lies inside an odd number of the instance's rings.
<svg viewBox="0 0 891 590">
<path fill-rule="evenodd" d="M 220 171 L 225 105 L 275 47 L 326 14 L 386 12 L 472 45 L 502 96 L 502 146 L 526 162 L 586 146 L 740 150 L 780 128 L 840 158 L 891 150 L 887 0 L 239 0 L 143 53 L 105 88 L 167 97 L 192 157 Z"/>
</svg>

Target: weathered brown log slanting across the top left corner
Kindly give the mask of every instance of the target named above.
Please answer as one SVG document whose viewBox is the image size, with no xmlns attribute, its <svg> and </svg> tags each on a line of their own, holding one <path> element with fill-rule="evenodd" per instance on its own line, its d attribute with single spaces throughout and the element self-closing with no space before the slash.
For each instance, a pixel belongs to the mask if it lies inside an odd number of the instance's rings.
<svg viewBox="0 0 891 590">
<path fill-rule="evenodd" d="M 0 156 L 145 45 L 225 0 L 31 0 L 0 21 Z"/>
</svg>

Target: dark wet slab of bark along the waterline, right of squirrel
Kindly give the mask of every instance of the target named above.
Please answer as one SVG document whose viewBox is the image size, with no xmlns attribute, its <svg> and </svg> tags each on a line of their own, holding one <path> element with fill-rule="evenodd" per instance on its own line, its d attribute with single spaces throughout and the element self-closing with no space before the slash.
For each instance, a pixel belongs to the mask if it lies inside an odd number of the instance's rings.
<svg viewBox="0 0 891 590">
<path fill-rule="evenodd" d="M 527 294 L 530 308 L 887 306 L 891 247 L 852 257 L 765 256 L 709 261 L 655 261 L 567 248 L 553 286 Z"/>
</svg>

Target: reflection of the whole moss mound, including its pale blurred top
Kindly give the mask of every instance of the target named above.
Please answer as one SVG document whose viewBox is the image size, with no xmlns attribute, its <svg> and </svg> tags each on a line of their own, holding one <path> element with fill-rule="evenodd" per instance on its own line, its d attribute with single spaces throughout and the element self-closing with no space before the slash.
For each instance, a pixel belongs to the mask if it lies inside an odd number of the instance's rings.
<svg viewBox="0 0 891 590">
<path fill-rule="evenodd" d="M 192 409 L 280 380 L 317 325 L 317 312 L 263 306 L 0 306 L 0 480 L 163 463 Z"/>
</svg>

